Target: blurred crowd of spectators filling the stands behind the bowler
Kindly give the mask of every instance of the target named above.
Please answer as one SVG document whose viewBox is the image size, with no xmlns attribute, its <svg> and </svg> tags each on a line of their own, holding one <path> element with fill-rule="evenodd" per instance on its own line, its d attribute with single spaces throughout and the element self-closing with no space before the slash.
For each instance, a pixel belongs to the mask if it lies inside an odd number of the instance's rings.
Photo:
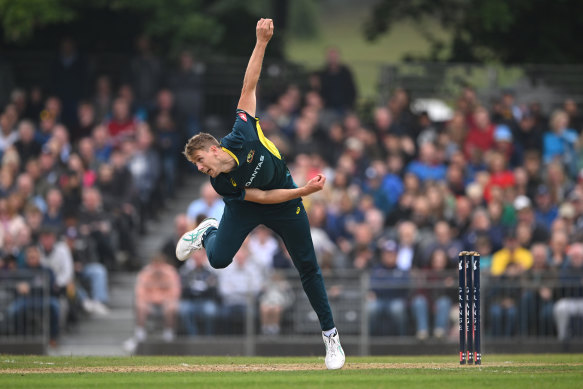
<svg viewBox="0 0 583 389">
<path fill-rule="evenodd" d="M 80 58 L 64 42 L 53 81 L 75 85 Z M 140 266 L 135 237 L 171 201 L 183 140 L 204 130 L 204 73 L 190 54 L 165 72 L 140 41 L 131 66 L 117 88 L 98 77 L 92 95 L 17 88 L 0 116 L 2 271 L 33 267 L 27 249 L 40 247 L 40 266 L 54 274 L 51 294 L 88 310 L 106 310 L 108 272 Z M 318 260 L 330 285 L 337 272 L 368 272 L 373 335 L 446 336 L 461 250 L 480 252 L 489 275 L 486 334 L 573 335 L 583 314 L 583 116 L 574 100 L 544 112 L 512 91 L 485 102 L 465 87 L 452 117 L 435 122 L 412 112 L 411 96 L 396 88 L 357 114 L 354 80 L 335 49 L 321 71 L 280 92 L 260 96 L 262 129 L 298 185 L 328 178 L 304 199 Z M 256 230 L 218 272 L 204 253 L 184 264 L 174 258 L 176 239 L 201 217 L 220 217 L 222 206 L 202 186 L 140 272 L 134 341 L 145 338 L 156 306 L 167 340 L 177 327 L 240 330 L 233 323 L 245 320 L 249 296 L 261 331 L 282 330 L 293 285 L 279 269 L 291 266 L 269 230 Z"/>
</svg>

